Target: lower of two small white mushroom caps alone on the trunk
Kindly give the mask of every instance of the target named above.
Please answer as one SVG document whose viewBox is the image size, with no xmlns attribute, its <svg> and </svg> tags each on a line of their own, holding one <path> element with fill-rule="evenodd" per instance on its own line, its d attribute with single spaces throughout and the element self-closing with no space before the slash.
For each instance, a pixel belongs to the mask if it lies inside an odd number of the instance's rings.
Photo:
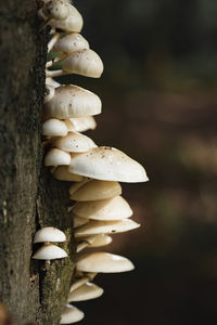
<svg viewBox="0 0 217 325">
<path fill-rule="evenodd" d="M 56 260 L 66 257 L 67 253 L 64 249 L 53 244 L 46 244 L 41 246 L 31 258 L 36 260 Z"/>
</svg>

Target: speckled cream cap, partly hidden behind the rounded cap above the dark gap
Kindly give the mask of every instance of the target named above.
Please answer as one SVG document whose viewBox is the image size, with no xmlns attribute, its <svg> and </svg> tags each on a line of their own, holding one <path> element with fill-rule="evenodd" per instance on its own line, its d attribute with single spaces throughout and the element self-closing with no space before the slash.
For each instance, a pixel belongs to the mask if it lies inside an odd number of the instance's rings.
<svg viewBox="0 0 217 325">
<path fill-rule="evenodd" d="M 89 49 L 89 43 L 80 34 L 77 32 L 72 32 L 62 37 L 54 46 L 55 52 L 63 52 L 67 54 L 84 49 Z"/>
</svg>

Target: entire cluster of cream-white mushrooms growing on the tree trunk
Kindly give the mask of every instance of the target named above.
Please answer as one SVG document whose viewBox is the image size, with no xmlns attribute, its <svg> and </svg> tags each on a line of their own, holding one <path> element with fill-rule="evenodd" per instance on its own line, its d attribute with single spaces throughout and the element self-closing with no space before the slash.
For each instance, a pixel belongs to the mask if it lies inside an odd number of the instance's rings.
<svg viewBox="0 0 217 325">
<path fill-rule="evenodd" d="M 92 78 L 102 75 L 100 56 L 79 34 L 82 28 L 80 13 L 68 1 L 43 0 L 39 14 L 43 18 L 42 28 L 51 27 L 48 52 L 53 49 L 59 53 L 46 67 L 42 135 L 49 143 L 49 150 L 44 165 L 50 167 L 56 180 L 73 182 L 69 197 L 74 205 L 68 213 L 74 218 L 78 256 L 75 280 L 61 316 L 61 324 L 71 324 L 84 317 L 72 302 L 94 299 L 103 294 L 103 289 L 92 283 L 98 273 L 133 270 L 133 264 L 124 257 L 103 251 L 82 255 L 81 251 L 106 246 L 112 242 L 111 235 L 140 226 L 130 219 L 132 210 L 122 196 L 119 182 L 146 182 L 149 179 L 139 162 L 117 148 L 98 146 L 82 134 L 97 126 L 93 116 L 101 113 L 99 96 L 81 87 L 60 84 L 53 79 L 66 74 Z M 55 69 L 60 63 L 62 69 Z M 50 260 L 66 257 L 60 247 L 50 244 L 63 240 L 63 235 L 52 227 L 37 232 L 34 243 L 44 244 L 33 258 Z"/>
</svg>

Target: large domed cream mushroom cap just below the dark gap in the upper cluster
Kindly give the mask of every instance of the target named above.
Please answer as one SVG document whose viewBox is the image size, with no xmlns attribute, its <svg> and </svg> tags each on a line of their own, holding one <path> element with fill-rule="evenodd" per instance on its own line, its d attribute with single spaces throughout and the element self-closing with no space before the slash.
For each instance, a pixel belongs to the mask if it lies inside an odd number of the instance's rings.
<svg viewBox="0 0 217 325">
<path fill-rule="evenodd" d="M 44 115 L 49 117 L 67 119 L 84 115 L 101 113 L 101 100 L 93 92 L 74 84 L 55 88 L 55 94 L 44 104 Z"/>
</svg>

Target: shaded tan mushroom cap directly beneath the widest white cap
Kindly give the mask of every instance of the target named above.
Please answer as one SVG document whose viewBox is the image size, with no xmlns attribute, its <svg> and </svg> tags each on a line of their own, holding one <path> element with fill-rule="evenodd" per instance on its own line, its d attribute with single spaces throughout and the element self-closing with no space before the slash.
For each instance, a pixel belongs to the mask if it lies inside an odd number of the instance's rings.
<svg viewBox="0 0 217 325">
<path fill-rule="evenodd" d="M 122 186 L 118 182 L 91 180 L 76 191 L 74 191 L 74 185 L 72 185 L 69 194 L 72 199 L 79 202 L 105 199 L 120 195 Z"/>
</svg>

